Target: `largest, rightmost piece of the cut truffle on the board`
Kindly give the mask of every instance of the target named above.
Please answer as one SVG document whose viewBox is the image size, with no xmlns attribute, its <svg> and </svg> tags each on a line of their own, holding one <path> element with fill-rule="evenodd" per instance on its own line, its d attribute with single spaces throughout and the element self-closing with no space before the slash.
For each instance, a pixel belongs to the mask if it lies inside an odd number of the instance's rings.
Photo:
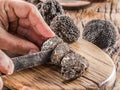
<svg viewBox="0 0 120 90">
<path fill-rule="evenodd" d="M 61 61 L 62 78 L 66 81 L 74 80 L 82 76 L 88 66 L 88 61 L 84 57 L 69 53 Z"/>
</svg>

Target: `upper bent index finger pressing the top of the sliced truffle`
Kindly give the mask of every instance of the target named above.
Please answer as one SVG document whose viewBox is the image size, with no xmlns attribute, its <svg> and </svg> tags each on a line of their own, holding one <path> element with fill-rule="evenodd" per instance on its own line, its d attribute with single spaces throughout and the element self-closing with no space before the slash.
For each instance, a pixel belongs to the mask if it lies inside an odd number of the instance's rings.
<svg viewBox="0 0 120 90">
<path fill-rule="evenodd" d="M 19 20 L 28 19 L 27 21 L 29 21 L 30 26 L 38 35 L 42 36 L 42 38 L 48 39 L 55 36 L 34 5 L 20 0 L 8 0 L 5 7 L 12 8 Z M 21 25 L 21 23 L 19 24 Z"/>
</svg>

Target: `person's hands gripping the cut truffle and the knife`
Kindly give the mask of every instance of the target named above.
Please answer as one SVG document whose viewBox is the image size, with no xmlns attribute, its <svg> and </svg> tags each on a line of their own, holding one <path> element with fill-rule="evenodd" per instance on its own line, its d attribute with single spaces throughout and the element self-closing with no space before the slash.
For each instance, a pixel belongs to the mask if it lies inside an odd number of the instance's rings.
<svg viewBox="0 0 120 90">
<path fill-rule="evenodd" d="M 30 3 L 21 0 L 0 0 L 0 11 L 2 50 L 21 55 L 37 52 L 45 40 L 55 36 L 37 8 Z M 0 71 L 12 74 L 13 69 L 11 59 L 0 51 Z"/>
</svg>

